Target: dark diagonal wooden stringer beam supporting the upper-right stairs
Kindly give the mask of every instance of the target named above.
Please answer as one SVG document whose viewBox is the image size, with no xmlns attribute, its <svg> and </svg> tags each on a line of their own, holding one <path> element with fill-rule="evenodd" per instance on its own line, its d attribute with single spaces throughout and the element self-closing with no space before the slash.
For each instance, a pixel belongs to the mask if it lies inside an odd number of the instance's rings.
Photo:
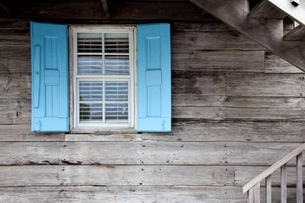
<svg viewBox="0 0 305 203">
<path fill-rule="evenodd" d="M 299 69 L 305 70 L 305 42 L 283 41 L 282 20 L 249 19 L 248 0 L 191 0 L 191 2 L 278 54 Z M 288 3 L 290 4 L 290 2 Z"/>
</svg>

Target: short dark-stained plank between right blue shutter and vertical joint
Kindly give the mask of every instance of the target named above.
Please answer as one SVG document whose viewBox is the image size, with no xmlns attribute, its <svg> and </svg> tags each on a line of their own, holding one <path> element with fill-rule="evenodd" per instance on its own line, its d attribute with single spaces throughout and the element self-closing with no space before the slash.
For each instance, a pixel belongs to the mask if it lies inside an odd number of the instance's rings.
<svg viewBox="0 0 305 203">
<path fill-rule="evenodd" d="M 172 71 L 172 94 L 225 95 L 225 73 Z"/>
</svg>

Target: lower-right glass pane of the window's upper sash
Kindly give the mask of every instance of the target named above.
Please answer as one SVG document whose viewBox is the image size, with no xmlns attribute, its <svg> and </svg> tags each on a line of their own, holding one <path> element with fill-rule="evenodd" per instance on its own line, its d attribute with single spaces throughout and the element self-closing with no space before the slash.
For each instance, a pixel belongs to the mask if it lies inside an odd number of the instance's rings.
<svg viewBox="0 0 305 203">
<path fill-rule="evenodd" d="M 129 56 L 105 55 L 105 74 L 129 74 Z"/>
</svg>

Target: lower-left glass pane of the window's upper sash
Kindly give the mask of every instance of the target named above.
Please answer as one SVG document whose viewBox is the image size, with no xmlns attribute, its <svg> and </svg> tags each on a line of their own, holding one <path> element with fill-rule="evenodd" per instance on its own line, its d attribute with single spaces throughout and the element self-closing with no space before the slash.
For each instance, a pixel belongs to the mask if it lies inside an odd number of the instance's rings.
<svg viewBox="0 0 305 203">
<path fill-rule="evenodd" d="M 79 55 L 77 57 L 78 74 L 102 74 L 103 58 L 102 56 Z"/>
</svg>

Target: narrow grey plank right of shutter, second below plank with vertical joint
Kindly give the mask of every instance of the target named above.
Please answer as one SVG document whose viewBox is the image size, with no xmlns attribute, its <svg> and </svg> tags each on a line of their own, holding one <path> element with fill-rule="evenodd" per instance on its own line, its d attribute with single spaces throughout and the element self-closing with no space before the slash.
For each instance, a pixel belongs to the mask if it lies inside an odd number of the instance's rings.
<svg viewBox="0 0 305 203">
<path fill-rule="evenodd" d="M 304 109 L 173 107 L 173 118 L 212 120 L 304 120 Z"/>
</svg>

